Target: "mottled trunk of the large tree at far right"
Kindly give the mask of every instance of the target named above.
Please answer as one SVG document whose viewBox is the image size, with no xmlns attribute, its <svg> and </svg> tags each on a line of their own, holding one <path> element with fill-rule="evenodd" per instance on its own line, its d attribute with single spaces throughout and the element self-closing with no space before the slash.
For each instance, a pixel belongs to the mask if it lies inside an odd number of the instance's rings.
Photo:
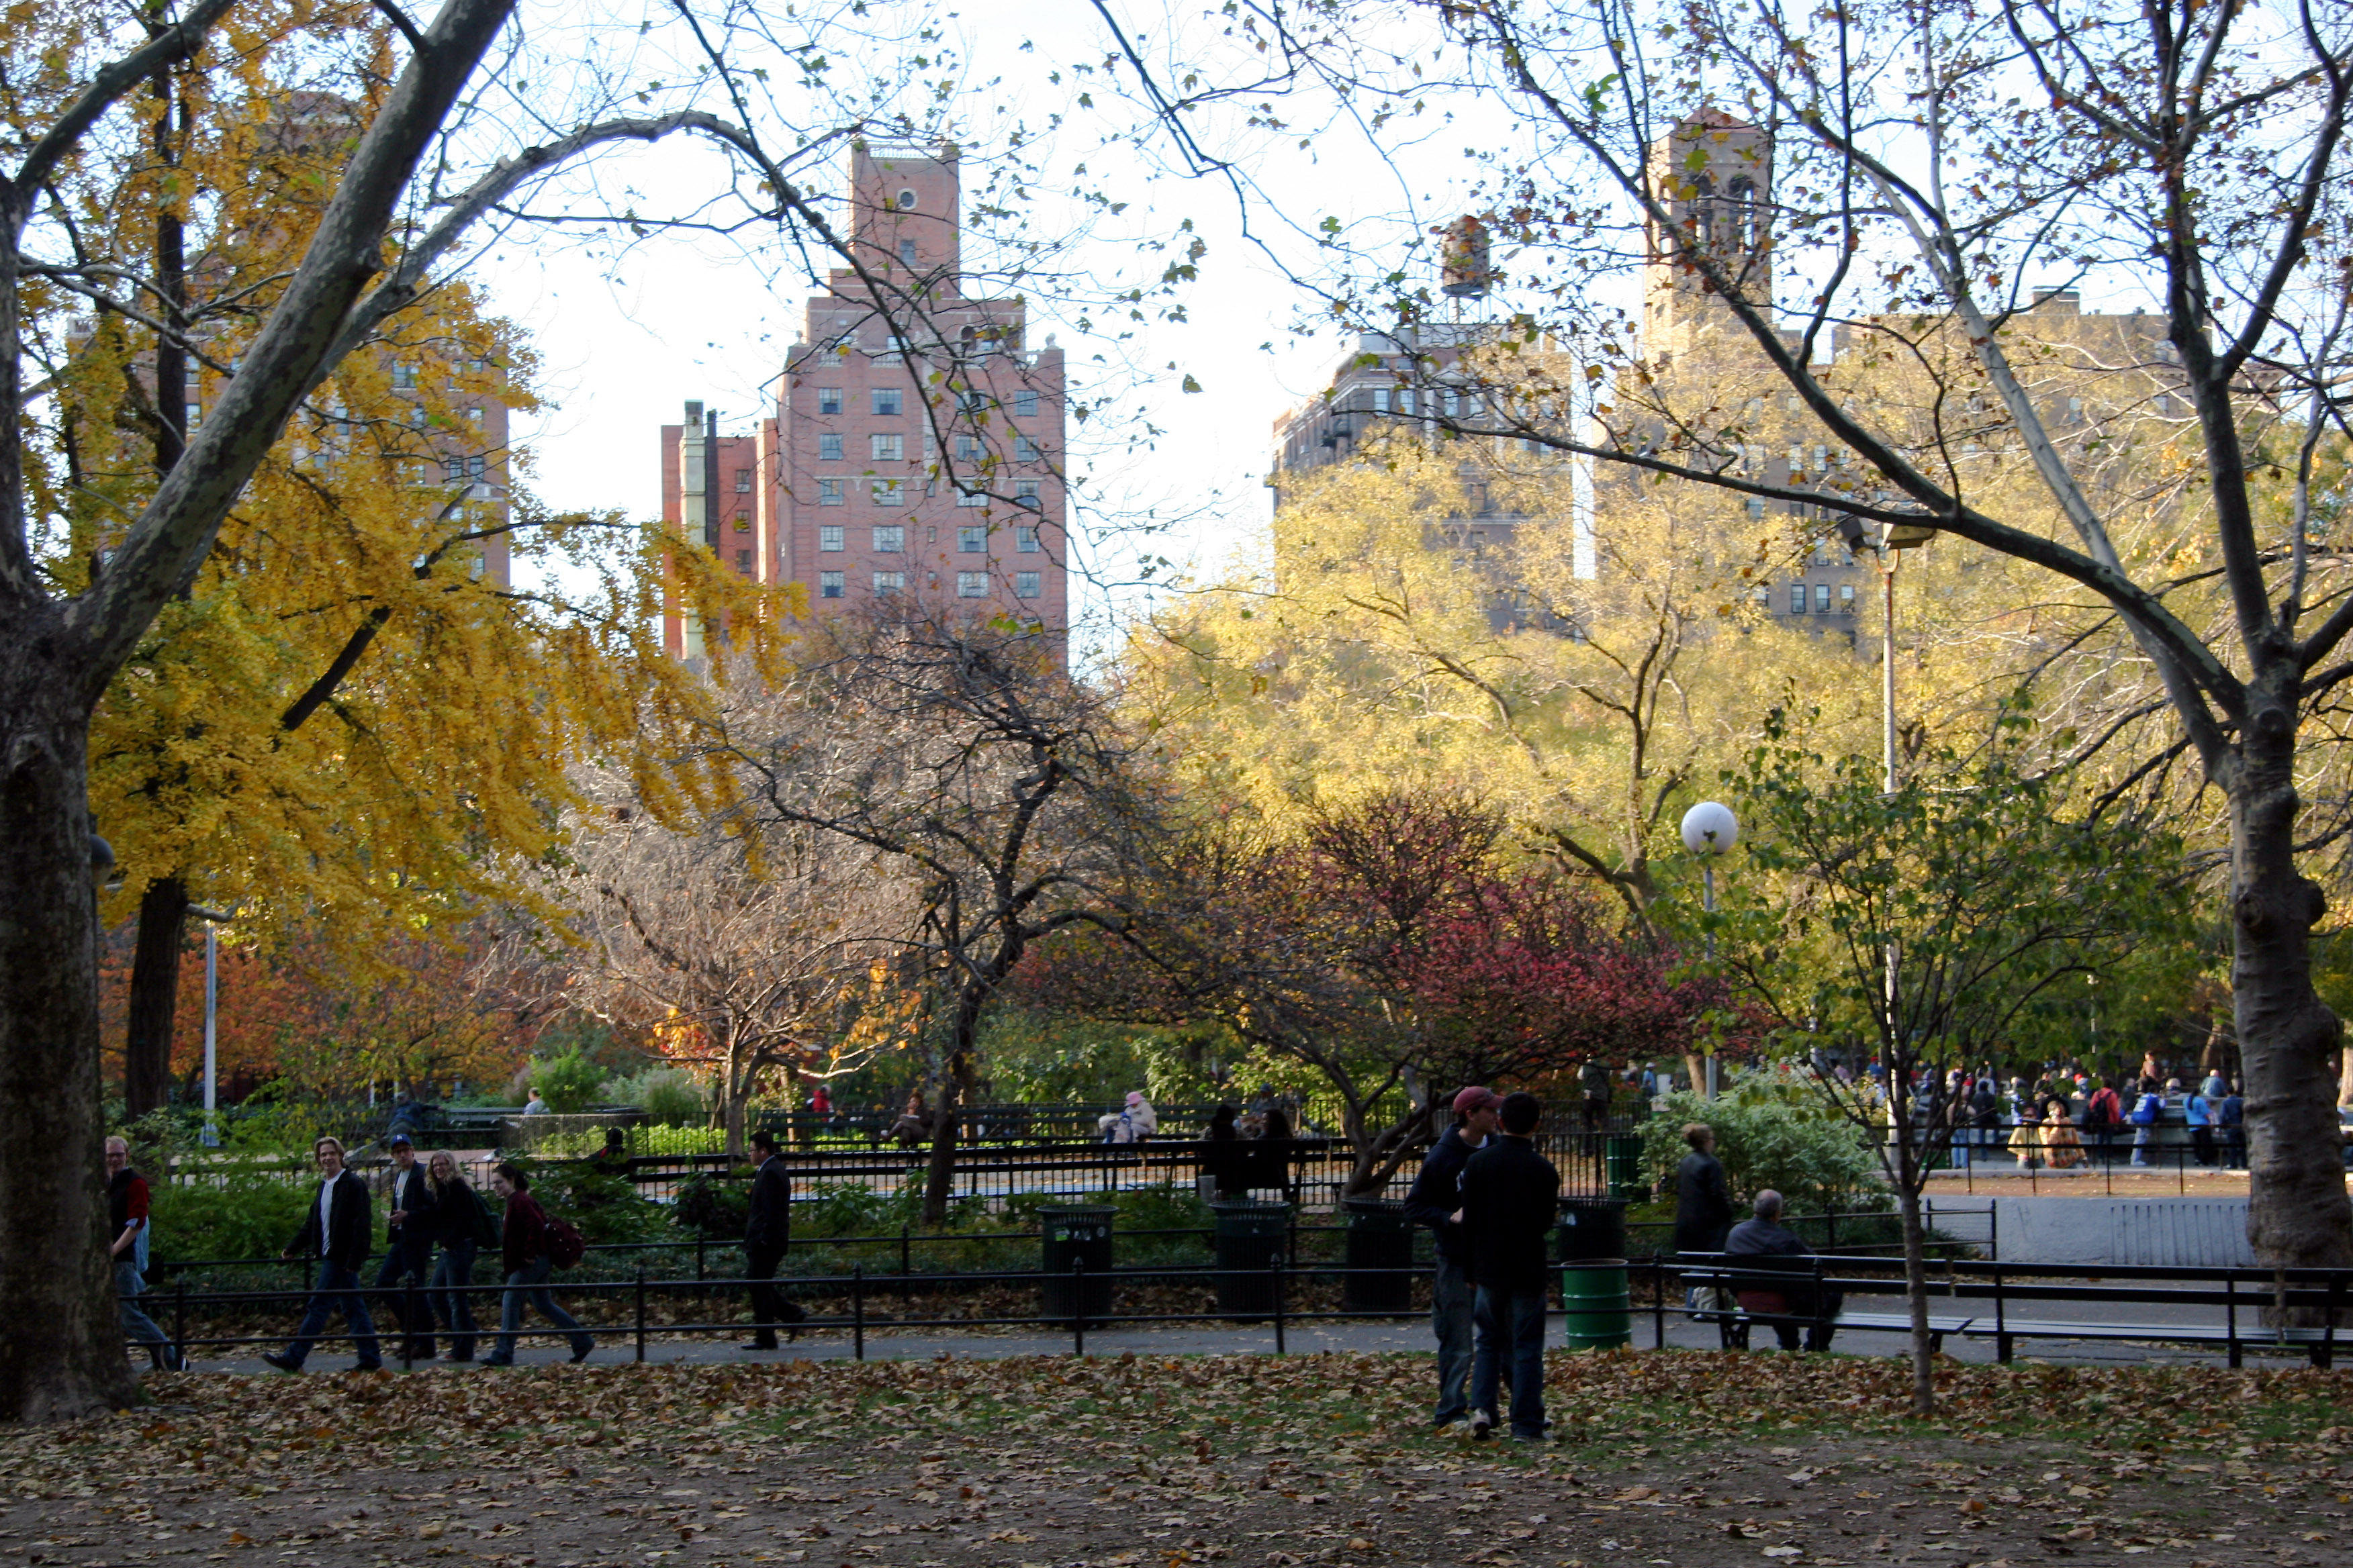
<svg viewBox="0 0 2353 1568">
<path fill-rule="evenodd" d="M 2292 712 L 2292 705 L 2289 705 Z M 2231 790 L 2231 987 L 2247 1081 L 2247 1241 L 2273 1267 L 2353 1267 L 2337 1070 L 2344 1027 L 2313 992 L 2327 900 L 2297 872 L 2294 724 L 2264 708 Z"/>
</svg>

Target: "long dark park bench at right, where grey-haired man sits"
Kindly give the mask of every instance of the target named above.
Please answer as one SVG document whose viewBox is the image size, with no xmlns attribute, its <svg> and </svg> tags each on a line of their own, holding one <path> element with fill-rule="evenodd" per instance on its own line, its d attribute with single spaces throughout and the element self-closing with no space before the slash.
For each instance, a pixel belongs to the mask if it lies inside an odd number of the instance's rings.
<svg viewBox="0 0 2353 1568">
<path fill-rule="evenodd" d="M 1842 1295 L 1901 1295 L 1904 1279 L 1892 1272 L 1859 1274 L 1859 1267 L 1885 1260 L 1864 1258 L 1727 1258 L 1708 1253 L 1678 1267 L 1682 1284 L 1727 1291 L 1737 1312 L 1708 1312 L 1725 1328 L 1725 1342 L 1746 1342 L 1748 1324 L 1819 1321 L 1814 1302 Z M 2099 1267 L 2099 1276 L 2087 1276 Z M 2231 1366 L 2242 1366 L 2245 1352 L 2266 1347 L 2301 1349 L 2313 1366 L 2332 1366 L 2337 1356 L 2337 1319 L 2353 1291 L 2353 1269 L 2287 1269 L 2285 1279 L 2268 1269 L 2200 1267 L 2125 1267 L 2125 1265 L 2005 1265 L 1953 1260 L 1929 1276 L 1929 1345 L 1946 1338 L 1993 1340 L 1995 1359 L 2012 1361 L 2021 1340 L 2104 1340 L 2141 1345 L 2221 1347 Z M 1802 1286 L 1791 1288 L 1788 1274 L 1802 1272 Z M 2292 1314 L 2318 1316 L 2320 1324 L 2268 1326 L 2266 1307 L 2282 1302 Z M 2038 1305 L 2097 1307 L 2217 1307 L 2221 1321 L 2127 1319 L 2122 1312 L 2101 1316 L 2028 1316 Z M 1873 1328 L 1908 1333 L 1908 1312 L 1857 1312 L 1845 1305 L 1828 1316 L 1833 1328 Z"/>
</svg>

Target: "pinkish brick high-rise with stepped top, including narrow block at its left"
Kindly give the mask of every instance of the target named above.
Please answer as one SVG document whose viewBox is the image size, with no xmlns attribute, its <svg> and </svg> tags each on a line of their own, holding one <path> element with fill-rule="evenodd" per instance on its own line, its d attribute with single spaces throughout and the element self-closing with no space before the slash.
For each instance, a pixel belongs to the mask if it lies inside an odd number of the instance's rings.
<svg viewBox="0 0 2353 1568">
<path fill-rule="evenodd" d="M 772 416 L 661 425 L 661 515 L 809 614 L 1016 616 L 1068 625 L 1064 357 L 1019 299 L 965 294 L 953 146 L 849 153 L 849 242 L 809 296 Z M 664 646 L 701 658 L 675 604 Z"/>
</svg>

